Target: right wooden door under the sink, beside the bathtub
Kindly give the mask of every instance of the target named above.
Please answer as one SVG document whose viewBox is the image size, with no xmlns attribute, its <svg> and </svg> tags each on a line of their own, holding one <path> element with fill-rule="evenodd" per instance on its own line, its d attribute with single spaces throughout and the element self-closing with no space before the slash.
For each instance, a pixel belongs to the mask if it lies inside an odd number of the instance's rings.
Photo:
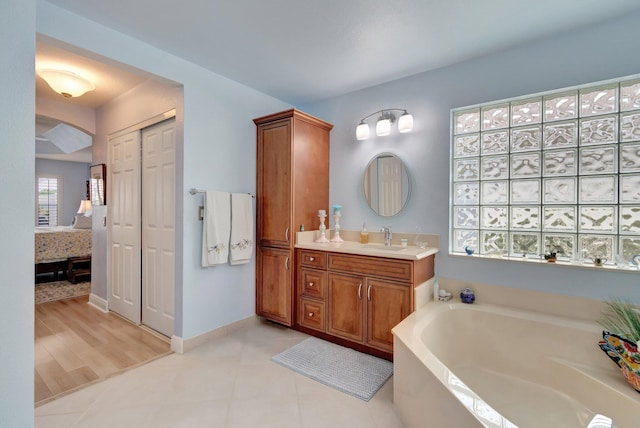
<svg viewBox="0 0 640 428">
<path fill-rule="evenodd" d="M 391 329 L 410 313 L 410 289 L 405 284 L 367 279 L 367 345 L 393 352 Z"/>
</svg>

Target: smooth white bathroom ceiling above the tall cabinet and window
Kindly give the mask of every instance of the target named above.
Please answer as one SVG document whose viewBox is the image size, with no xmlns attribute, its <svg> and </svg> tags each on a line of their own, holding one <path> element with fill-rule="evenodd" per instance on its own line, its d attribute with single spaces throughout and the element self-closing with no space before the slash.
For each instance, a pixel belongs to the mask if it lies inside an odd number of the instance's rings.
<svg viewBox="0 0 640 428">
<path fill-rule="evenodd" d="M 640 10 L 638 0 L 47 0 L 293 105 Z"/>
</svg>

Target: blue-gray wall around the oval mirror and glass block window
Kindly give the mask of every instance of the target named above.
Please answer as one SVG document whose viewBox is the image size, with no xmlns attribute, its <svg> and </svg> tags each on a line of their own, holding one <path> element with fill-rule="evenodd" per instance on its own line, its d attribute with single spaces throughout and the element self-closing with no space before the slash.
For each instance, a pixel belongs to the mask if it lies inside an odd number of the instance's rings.
<svg viewBox="0 0 640 428">
<path fill-rule="evenodd" d="M 441 236 L 436 274 L 464 281 L 592 298 L 640 300 L 640 273 L 525 264 L 449 256 L 450 109 L 640 73 L 640 14 L 529 43 L 432 72 L 301 106 L 335 125 L 331 134 L 331 203 L 343 205 L 340 224 L 370 230 L 391 225 L 399 232 Z M 442 41 L 446 43 L 446 40 Z M 419 43 L 419 41 L 416 41 Z M 360 119 L 383 108 L 406 108 L 409 134 L 355 139 Z M 414 190 L 406 211 L 376 217 L 362 195 L 362 174 L 377 153 L 392 152 L 408 165 Z"/>
</svg>

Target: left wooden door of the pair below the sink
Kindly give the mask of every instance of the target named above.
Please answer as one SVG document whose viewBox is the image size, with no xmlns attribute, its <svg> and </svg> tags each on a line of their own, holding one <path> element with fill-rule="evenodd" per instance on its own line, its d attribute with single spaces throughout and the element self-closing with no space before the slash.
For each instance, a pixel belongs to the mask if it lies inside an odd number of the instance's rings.
<svg viewBox="0 0 640 428">
<path fill-rule="evenodd" d="M 364 341 L 364 278 L 329 273 L 327 332 L 354 342 Z"/>
</svg>

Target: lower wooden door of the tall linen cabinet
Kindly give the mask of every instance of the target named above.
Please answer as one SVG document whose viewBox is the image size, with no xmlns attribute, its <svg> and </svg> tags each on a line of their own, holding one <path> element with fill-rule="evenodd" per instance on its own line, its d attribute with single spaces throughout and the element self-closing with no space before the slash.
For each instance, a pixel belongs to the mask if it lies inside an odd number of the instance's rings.
<svg viewBox="0 0 640 428">
<path fill-rule="evenodd" d="M 258 247 L 256 313 L 272 321 L 291 326 L 291 251 Z"/>
</svg>

